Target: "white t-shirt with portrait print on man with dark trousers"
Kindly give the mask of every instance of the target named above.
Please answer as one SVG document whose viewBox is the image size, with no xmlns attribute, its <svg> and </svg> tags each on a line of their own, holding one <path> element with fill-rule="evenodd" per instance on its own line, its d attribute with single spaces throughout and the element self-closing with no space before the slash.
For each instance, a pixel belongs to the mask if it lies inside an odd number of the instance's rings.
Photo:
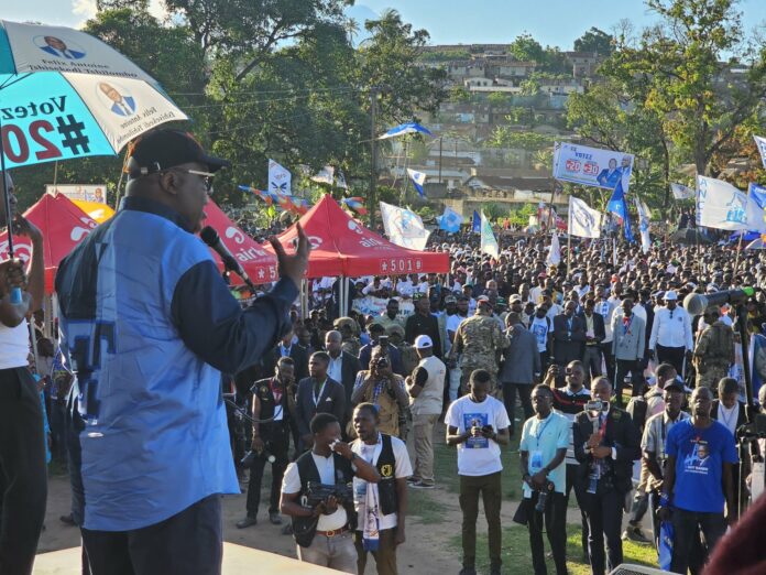
<svg viewBox="0 0 766 575">
<path fill-rule="evenodd" d="M 448 426 L 457 427 L 459 433 L 466 433 L 474 422 L 480 427 L 492 425 L 495 432 L 511 425 L 505 405 L 492 395 L 488 395 L 481 403 L 471 401 L 470 395 L 463 395 L 449 405 L 445 416 Z M 486 437 L 470 437 L 458 444 L 458 475 L 478 477 L 502 470 L 497 442 Z"/>
</svg>

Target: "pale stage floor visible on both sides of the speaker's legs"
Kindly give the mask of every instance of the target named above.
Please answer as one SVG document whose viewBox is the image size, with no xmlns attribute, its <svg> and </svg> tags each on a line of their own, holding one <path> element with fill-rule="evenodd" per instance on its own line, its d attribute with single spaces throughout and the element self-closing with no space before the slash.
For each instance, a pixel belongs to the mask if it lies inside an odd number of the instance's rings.
<svg viewBox="0 0 766 575">
<path fill-rule="evenodd" d="M 41 553 L 33 575 L 80 575 L 80 547 Z M 337 571 L 300 563 L 275 553 L 233 543 L 223 543 L 223 575 L 263 573 L 269 575 L 330 575 Z"/>
</svg>

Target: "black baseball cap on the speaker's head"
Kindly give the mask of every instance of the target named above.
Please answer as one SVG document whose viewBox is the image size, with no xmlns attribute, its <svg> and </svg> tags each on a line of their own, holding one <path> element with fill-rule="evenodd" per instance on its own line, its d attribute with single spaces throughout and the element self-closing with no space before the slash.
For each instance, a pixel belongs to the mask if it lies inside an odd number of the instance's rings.
<svg viewBox="0 0 766 575">
<path fill-rule="evenodd" d="M 133 142 L 127 172 L 135 178 L 188 163 L 205 164 L 210 173 L 231 166 L 228 160 L 207 155 L 188 132 L 154 130 Z"/>
</svg>

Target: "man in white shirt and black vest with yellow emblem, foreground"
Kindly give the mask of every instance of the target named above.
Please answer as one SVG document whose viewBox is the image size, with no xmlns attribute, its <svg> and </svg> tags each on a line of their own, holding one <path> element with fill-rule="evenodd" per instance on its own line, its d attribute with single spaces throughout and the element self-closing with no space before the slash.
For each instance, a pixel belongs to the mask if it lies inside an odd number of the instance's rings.
<svg viewBox="0 0 766 575">
<path fill-rule="evenodd" d="M 364 573 L 369 551 L 375 558 L 377 573 L 396 575 L 396 547 L 405 541 L 407 477 L 413 469 L 404 442 L 379 432 L 377 423 L 375 405 L 357 405 L 353 427 L 359 438 L 351 444 L 351 449 L 374 466 L 381 476 L 377 484 L 353 478 L 353 505 L 358 516 L 353 534 L 357 573 Z M 369 506 L 370 501 L 377 506 Z"/>
</svg>

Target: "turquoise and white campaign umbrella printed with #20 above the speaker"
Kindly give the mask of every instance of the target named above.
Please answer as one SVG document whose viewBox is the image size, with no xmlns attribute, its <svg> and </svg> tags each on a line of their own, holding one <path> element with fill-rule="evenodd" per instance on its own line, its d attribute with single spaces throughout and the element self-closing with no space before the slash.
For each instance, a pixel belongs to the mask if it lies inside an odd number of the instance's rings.
<svg viewBox="0 0 766 575">
<path fill-rule="evenodd" d="M 152 128 L 187 119 L 154 78 L 99 39 L 0 21 L 0 171 L 117 155 Z"/>
</svg>

